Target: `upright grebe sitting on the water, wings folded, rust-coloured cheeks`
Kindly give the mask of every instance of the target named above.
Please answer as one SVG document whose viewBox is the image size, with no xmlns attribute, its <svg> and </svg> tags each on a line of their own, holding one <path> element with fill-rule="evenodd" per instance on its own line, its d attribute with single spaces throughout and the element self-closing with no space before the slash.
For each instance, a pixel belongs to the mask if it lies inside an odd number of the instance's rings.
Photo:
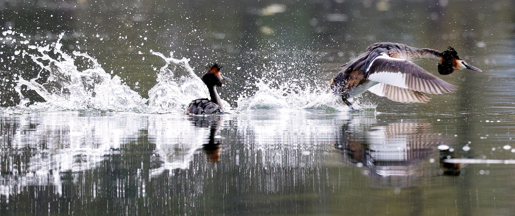
<svg viewBox="0 0 515 216">
<path fill-rule="evenodd" d="M 216 63 L 205 67 L 207 71 L 202 75 L 202 77 L 200 77 L 200 79 L 202 79 L 205 85 L 208 86 L 211 100 L 208 98 L 193 100 L 190 105 L 188 105 L 186 111 L 184 111 L 185 115 L 209 115 L 224 112 L 224 106 L 221 103 L 220 96 L 216 92 L 216 86 L 222 86 L 222 80 L 231 81 L 231 79 L 222 76 L 220 73 L 221 67 L 222 66 L 219 66 Z"/>
</svg>

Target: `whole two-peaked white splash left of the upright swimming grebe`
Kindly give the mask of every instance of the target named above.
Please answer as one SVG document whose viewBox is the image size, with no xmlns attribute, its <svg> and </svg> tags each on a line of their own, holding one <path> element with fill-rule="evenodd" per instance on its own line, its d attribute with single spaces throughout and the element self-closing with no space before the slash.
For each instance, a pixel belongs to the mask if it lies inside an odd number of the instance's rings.
<svg viewBox="0 0 515 216">
<path fill-rule="evenodd" d="M 13 35 L 15 33 L 12 30 L 4 32 L 4 34 Z M 61 50 L 60 41 L 63 35 L 61 33 L 58 41 L 53 44 L 28 46 L 29 49 L 36 50 L 35 53 L 23 50 L 23 57 L 29 56 L 43 71 L 36 78 L 25 80 L 19 76 L 15 81 L 14 88 L 20 95 L 20 104 L 15 107 L 13 113 L 93 109 L 179 114 L 192 100 L 208 98 L 208 89 L 188 64 L 189 59 L 174 59 L 171 52 L 169 58 L 159 52 L 152 52 L 163 58 L 166 65 L 159 70 L 158 83 L 148 93 L 147 105 L 147 99 L 142 98 L 129 86 L 122 83 L 120 77 L 116 75 L 111 77 L 98 61 L 87 53 L 73 51 L 73 56 L 70 56 Z M 10 42 L 16 43 L 16 40 L 13 39 Z M 22 44 L 27 43 L 28 41 Z M 77 60 L 82 60 L 82 62 L 77 64 Z M 79 64 L 90 65 L 90 67 L 79 71 L 77 66 Z M 46 82 L 42 84 L 37 82 L 42 77 L 41 73 L 49 73 Z M 26 107 L 25 105 L 30 100 L 23 95 L 22 86 L 36 91 L 46 102 Z M 231 109 L 226 101 L 222 100 L 222 103 L 228 107 L 227 110 Z"/>
</svg>

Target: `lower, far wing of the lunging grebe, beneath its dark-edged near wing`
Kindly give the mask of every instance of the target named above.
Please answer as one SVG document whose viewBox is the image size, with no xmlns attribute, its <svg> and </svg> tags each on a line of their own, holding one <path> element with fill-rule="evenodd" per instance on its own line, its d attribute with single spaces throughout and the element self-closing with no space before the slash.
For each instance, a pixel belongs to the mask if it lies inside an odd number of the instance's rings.
<svg viewBox="0 0 515 216">
<path fill-rule="evenodd" d="M 423 92 L 417 92 L 409 88 L 400 88 L 385 83 L 379 83 L 368 89 L 377 96 L 386 97 L 401 103 L 427 103 L 431 97 Z"/>
</svg>

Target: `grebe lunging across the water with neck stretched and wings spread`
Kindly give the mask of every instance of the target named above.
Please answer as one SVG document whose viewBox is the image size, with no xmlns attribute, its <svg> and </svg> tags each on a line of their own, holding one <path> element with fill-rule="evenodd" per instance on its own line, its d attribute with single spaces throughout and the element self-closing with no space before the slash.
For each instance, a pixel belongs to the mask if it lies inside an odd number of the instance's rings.
<svg viewBox="0 0 515 216">
<path fill-rule="evenodd" d="M 331 81 L 331 89 L 352 110 L 355 109 L 347 99 L 367 90 L 402 103 L 426 103 L 431 99 L 427 94 L 443 94 L 456 90 L 457 86 L 443 81 L 412 62 L 421 59 L 438 61 L 438 73 L 441 75 L 465 68 L 482 71 L 459 58 L 458 52 L 452 47 L 439 52 L 398 43 L 375 43 L 368 46 L 362 55 L 340 66 L 342 69 Z"/>
</svg>

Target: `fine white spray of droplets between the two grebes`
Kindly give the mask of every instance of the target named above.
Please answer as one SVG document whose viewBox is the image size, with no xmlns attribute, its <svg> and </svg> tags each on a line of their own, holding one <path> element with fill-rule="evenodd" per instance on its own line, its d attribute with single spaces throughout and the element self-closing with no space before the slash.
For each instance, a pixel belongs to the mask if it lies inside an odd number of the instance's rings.
<svg viewBox="0 0 515 216">
<path fill-rule="evenodd" d="M 263 42 L 246 62 L 250 68 L 244 91 L 237 99 L 239 113 L 252 110 L 349 111 L 328 91 L 328 78 L 319 64 L 322 53 L 309 49 L 280 49 L 276 42 Z M 251 56 L 251 55 L 248 55 Z M 322 75 L 322 76 L 321 76 Z"/>
</svg>

